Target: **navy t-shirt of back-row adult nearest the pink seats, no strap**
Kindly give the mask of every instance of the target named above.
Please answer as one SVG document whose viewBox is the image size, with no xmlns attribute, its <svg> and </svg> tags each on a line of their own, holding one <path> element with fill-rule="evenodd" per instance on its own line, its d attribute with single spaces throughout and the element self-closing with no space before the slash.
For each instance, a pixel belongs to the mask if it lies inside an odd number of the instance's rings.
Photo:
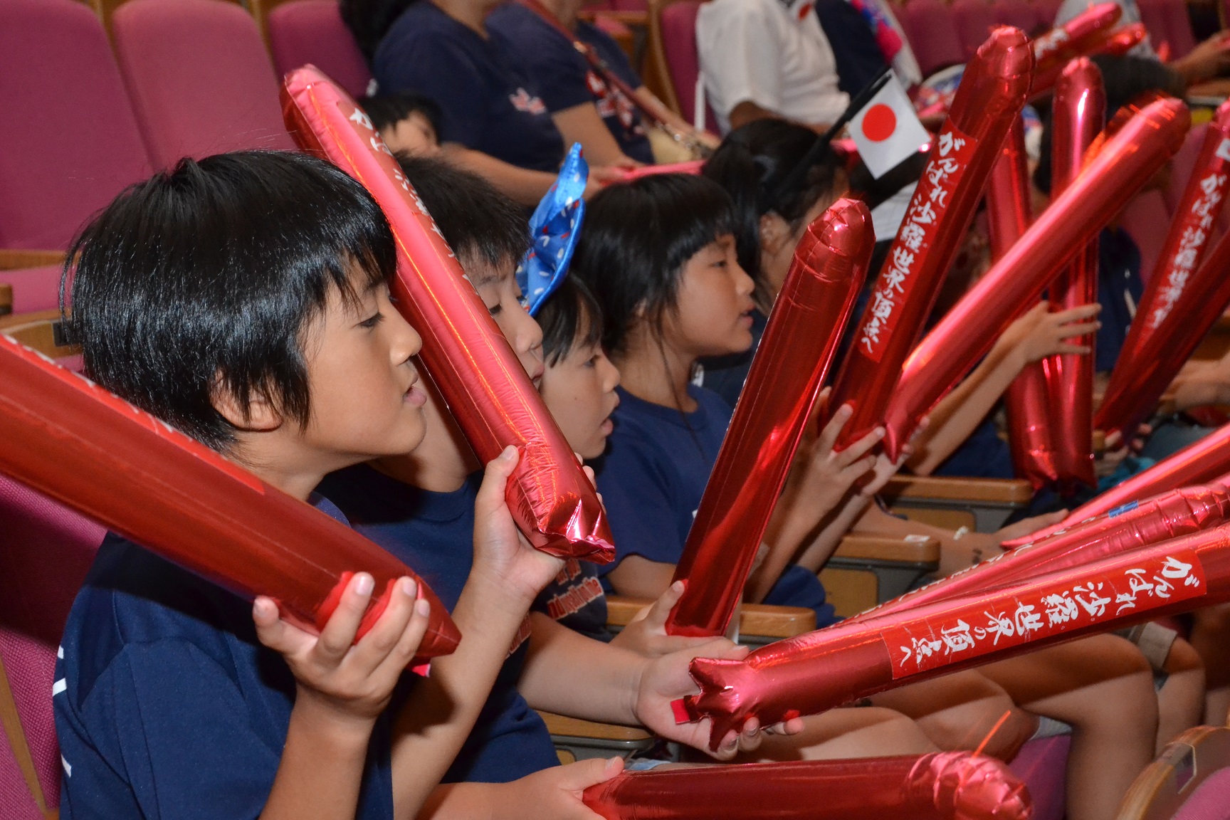
<svg viewBox="0 0 1230 820">
<path fill-rule="evenodd" d="M 373 73 L 385 93 L 416 91 L 435 101 L 442 143 L 554 173 L 563 138 L 513 44 L 498 31 L 487 33 L 416 0 L 380 41 Z"/>
</svg>

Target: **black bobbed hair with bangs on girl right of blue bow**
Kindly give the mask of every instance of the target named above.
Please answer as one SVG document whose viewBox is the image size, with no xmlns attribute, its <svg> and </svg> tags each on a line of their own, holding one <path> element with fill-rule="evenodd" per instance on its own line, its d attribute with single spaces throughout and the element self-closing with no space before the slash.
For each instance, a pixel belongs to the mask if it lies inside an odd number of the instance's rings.
<svg viewBox="0 0 1230 820">
<path fill-rule="evenodd" d="M 599 192 L 585 207 L 571 275 L 601 307 L 603 347 L 622 353 L 638 311 L 661 334 L 684 264 L 734 226 L 731 195 L 706 177 L 661 173 Z"/>
</svg>

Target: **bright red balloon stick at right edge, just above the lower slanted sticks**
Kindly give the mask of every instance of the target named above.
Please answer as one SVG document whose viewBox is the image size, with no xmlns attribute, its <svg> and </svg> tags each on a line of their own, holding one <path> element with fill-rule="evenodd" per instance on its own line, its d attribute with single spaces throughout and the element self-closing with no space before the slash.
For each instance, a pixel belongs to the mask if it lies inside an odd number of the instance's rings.
<svg viewBox="0 0 1230 820">
<path fill-rule="evenodd" d="M 1071 515 L 1059 524 L 1031 534 L 1023 538 L 1005 541 L 1006 547 L 1018 547 L 1031 541 L 1038 541 L 1060 530 L 1069 529 L 1098 515 L 1121 508 L 1130 508 L 1144 499 L 1153 498 L 1180 487 L 1218 479 L 1230 482 L 1230 424 L 1226 424 L 1199 441 L 1193 441 L 1168 459 L 1164 459 L 1149 470 L 1139 472 L 1121 484 L 1116 484 L 1087 504 L 1073 510 Z"/>
</svg>

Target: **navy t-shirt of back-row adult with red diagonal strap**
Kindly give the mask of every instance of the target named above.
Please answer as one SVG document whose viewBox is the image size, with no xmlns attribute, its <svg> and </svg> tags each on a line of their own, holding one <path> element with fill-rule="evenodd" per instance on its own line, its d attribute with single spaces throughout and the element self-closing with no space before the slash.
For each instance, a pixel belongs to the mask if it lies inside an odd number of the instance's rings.
<svg viewBox="0 0 1230 820">
<path fill-rule="evenodd" d="M 506 2 L 491 12 L 487 27 L 504 34 L 517 48 L 547 111 L 554 114 L 592 102 L 624 154 L 640 162 L 653 162 L 649 138 L 645 135 L 636 106 L 608 85 L 560 31 L 518 2 Z M 641 87 L 641 77 L 636 76 L 624 49 L 606 32 L 582 20 L 574 34 L 593 48 L 620 80 L 633 89 Z"/>
</svg>

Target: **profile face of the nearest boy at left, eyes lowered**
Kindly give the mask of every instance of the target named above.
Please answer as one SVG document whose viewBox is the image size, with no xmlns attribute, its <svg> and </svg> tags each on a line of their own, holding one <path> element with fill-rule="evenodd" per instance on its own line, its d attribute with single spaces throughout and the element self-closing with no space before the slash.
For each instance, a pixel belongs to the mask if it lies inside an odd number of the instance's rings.
<svg viewBox="0 0 1230 820">
<path fill-rule="evenodd" d="M 300 443 L 328 470 L 410 452 L 423 440 L 423 404 L 411 358 L 422 338 L 389 298 L 389 285 L 368 286 L 355 266 L 358 295 L 349 305 L 333 288 L 305 333 L 304 358 L 311 418 Z"/>
</svg>

